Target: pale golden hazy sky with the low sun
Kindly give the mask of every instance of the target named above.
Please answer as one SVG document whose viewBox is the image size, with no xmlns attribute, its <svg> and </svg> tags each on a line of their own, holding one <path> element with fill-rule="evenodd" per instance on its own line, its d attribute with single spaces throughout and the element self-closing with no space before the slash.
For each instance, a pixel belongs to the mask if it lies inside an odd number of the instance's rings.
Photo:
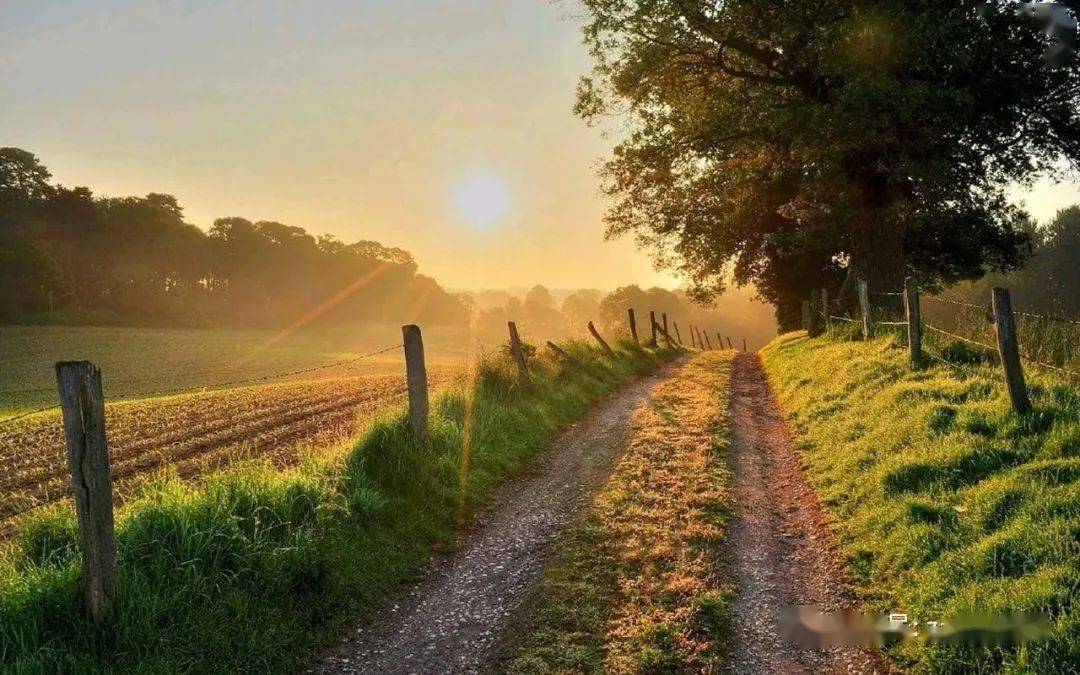
<svg viewBox="0 0 1080 675">
<path fill-rule="evenodd" d="M 0 0 L 0 146 L 187 220 L 414 254 L 446 286 L 673 286 L 605 242 L 573 0 Z M 1040 219 L 1075 183 L 1016 191 Z"/>
</svg>

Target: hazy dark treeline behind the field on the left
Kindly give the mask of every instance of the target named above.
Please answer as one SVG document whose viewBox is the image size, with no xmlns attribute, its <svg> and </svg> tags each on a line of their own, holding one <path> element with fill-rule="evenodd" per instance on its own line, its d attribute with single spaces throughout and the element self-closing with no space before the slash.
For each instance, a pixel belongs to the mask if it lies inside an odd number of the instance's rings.
<svg viewBox="0 0 1080 675">
<path fill-rule="evenodd" d="M 168 194 L 103 198 L 0 148 L 0 323 L 314 321 L 462 324 L 468 303 L 408 252 L 274 221 L 184 221 Z"/>
</svg>

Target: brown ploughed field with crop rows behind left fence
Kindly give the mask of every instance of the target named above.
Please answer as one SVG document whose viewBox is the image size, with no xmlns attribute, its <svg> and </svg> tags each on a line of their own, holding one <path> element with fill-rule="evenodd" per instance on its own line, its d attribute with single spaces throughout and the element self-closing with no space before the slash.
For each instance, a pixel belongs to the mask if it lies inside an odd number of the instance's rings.
<svg viewBox="0 0 1080 675">
<path fill-rule="evenodd" d="M 432 383 L 454 368 L 433 368 Z M 198 475 L 240 457 L 295 463 L 303 448 L 334 445 L 401 401 L 401 375 L 322 378 L 109 404 L 106 427 L 119 485 L 162 467 Z M 0 521 L 67 495 L 58 411 L 0 428 Z"/>
</svg>

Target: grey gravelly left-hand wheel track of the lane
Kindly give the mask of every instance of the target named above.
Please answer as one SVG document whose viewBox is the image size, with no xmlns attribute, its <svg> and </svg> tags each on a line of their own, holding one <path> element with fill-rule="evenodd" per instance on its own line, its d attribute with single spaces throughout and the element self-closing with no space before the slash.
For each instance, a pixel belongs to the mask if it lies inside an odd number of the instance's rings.
<svg viewBox="0 0 1080 675">
<path fill-rule="evenodd" d="M 675 367 L 638 380 L 563 432 L 529 475 L 504 484 L 460 548 L 389 616 L 360 626 L 320 673 L 483 672 L 528 596 L 549 544 L 589 502 L 626 444 L 630 418 Z"/>
</svg>

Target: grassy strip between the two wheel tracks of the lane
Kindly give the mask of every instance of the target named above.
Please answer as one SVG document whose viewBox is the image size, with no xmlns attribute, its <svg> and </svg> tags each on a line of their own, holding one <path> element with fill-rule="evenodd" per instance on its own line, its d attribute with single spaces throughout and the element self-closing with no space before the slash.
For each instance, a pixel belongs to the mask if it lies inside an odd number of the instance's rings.
<svg viewBox="0 0 1080 675">
<path fill-rule="evenodd" d="M 561 537 L 511 672 L 712 672 L 721 663 L 732 354 L 698 355 L 636 413 L 611 480 Z"/>
</svg>

